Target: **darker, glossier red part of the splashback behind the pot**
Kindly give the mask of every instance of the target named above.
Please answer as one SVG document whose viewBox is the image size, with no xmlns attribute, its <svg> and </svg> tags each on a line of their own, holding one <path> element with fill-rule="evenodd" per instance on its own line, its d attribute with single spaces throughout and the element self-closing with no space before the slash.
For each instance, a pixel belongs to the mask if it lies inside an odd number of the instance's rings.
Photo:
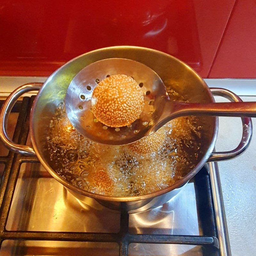
<svg viewBox="0 0 256 256">
<path fill-rule="evenodd" d="M 5 1 L 0 75 L 49 75 L 97 48 L 137 45 L 200 70 L 193 1 Z"/>
</svg>

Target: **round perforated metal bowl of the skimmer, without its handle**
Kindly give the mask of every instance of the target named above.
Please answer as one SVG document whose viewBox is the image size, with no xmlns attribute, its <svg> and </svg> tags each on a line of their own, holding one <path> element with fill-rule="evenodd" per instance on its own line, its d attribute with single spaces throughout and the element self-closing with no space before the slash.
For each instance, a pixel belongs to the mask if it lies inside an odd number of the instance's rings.
<svg viewBox="0 0 256 256">
<path fill-rule="evenodd" d="M 94 88 L 104 78 L 115 74 L 133 77 L 144 95 L 140 119 L 128 127 L 108 127 L 98 122 L 91 111 Z M 68 86 L 65 106 L 71 124 L 85 137 L 103 144 L 124 145 L 154 132 L 152 128 L 163 114 L 166 98 L 164 83 L 156 72 L 140 62 L 116 58 L 99 60 L 83 68 Z"/>
</svg>

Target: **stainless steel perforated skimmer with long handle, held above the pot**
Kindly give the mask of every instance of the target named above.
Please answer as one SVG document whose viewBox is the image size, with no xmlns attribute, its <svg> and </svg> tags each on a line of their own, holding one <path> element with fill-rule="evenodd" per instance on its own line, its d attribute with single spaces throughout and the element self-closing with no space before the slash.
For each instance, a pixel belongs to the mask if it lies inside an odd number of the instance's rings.
<svg viewBox="0 0 256 256">
<path fill-rule="evenodd" d="M 125 74 L 140 85 L 145 105 L 140 119 L 124 127 L 108 127 L 91 111 L 93 89 L 107 76 Z M 74 128 L 90 140 L 124 145 L 156 132 L 178 116 L 256 117 L 256 102 L 183 103 L 171 101 L 161 78 L 146 65 L 128 59 L 105 59 L 83 68 L 71 81 L 65 97 L 66 113 Z"/>
</svg>

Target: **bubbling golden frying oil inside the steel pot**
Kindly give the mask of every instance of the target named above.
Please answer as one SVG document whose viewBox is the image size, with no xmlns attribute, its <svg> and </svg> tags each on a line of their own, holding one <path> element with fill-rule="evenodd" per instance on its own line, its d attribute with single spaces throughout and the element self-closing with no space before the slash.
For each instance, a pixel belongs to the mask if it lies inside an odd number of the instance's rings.
<svg viewBox="0 0 256 256">
<path fill-rule="evenodd" d="M 170 90 L 171 100 L 186 102 Z M 198 117 L 179 117 L 164 126 L 157 151 L 140 155 L 127 145 L 93 142 L 76 132 L 60 103 L 50 122 L 47 150 L 51 167 L 75 187 L 108 196 L 138 196 L 166 188 L 183 178 L 202 154 Z"/>
</svg>

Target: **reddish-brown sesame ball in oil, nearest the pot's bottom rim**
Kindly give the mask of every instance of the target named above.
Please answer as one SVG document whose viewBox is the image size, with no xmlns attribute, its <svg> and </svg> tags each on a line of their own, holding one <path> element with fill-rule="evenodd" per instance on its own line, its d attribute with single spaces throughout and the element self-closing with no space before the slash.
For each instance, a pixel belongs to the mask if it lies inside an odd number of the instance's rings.
<svg viewBox="0 0 256 256">
<path fill-rule="evenodd" d="M 114 188 L 113 181 L 104 169 L 98 169 L 88 177 L 90 185 L 100 194 L 110 194 Z"/>
</svg>

